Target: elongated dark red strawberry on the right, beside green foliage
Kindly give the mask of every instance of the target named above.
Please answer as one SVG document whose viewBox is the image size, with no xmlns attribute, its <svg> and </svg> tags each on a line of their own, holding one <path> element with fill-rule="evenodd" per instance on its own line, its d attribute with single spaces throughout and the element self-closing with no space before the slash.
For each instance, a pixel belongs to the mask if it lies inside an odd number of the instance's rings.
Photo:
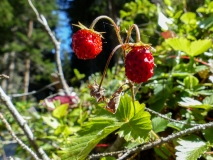
<svg viewBox="0 0 213 160">
<path fill-rule="evenodd" d="M 153 75 L 154 58 L 149 47 L 134 46 L 125 58 L 125 72 L 135 83 L 146 82 Z"/>
</svg>

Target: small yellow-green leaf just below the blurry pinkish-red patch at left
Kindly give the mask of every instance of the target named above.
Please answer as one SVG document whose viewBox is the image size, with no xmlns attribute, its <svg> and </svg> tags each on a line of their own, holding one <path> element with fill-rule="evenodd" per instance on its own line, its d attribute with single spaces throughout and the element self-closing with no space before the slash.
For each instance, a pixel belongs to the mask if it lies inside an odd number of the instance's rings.
<svg viewBox="0 0 213 160">
<path fill-rule="evenodd" d="M 65 104 L 62 104 L 62 105 L 56 107 L 52 112 L 53 117 L 58 118 L 58 119 L 64 117 L 65 115 L 67 115 L 68 107 L 69 107 L 68 103 L 65 103 Z"/>
</svg>

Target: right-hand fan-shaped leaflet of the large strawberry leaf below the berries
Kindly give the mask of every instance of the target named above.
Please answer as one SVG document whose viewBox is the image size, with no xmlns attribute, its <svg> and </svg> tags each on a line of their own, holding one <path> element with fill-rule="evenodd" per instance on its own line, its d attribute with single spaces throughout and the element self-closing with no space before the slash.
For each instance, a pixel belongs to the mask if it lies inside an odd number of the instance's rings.
<svg viewBox="0 0 213 160">
<path fill-rule="evenodd" d="M 132 140 L 142 143 L 146 141 L 151 129 L 150 114 L 141 109 L 129 122 L 123 124 L 117 133 L 120 137 L 124 137 L 126 141 Z"/>
</svg>

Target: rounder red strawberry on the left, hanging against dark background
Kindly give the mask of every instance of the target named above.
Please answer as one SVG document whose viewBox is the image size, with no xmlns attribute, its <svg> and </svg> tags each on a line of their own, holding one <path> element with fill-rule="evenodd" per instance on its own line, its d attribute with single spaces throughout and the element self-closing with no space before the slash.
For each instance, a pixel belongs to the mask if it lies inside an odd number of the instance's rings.
<svg viewBox="0 0 213 160">
<path fill-rule="evenodd" d="M 72 49 L 79 59 L 93 59 L 102 51 L 101 35 L 89 29 L 73 34 Z"/>
</svg>

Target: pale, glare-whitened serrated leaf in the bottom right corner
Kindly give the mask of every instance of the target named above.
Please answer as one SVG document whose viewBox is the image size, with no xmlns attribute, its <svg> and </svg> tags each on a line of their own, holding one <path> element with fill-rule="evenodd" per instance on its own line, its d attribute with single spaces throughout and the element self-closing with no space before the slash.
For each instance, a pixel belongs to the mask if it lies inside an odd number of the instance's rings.
<svg viewBox="0 0 213 160">
<path fill-rule="evenodd" d="M 195 160 L 198 159 L 207 149 L 207 144 L 198 136 L 190 135 L 178 140 L 176 160 Z"/>
</svg>

